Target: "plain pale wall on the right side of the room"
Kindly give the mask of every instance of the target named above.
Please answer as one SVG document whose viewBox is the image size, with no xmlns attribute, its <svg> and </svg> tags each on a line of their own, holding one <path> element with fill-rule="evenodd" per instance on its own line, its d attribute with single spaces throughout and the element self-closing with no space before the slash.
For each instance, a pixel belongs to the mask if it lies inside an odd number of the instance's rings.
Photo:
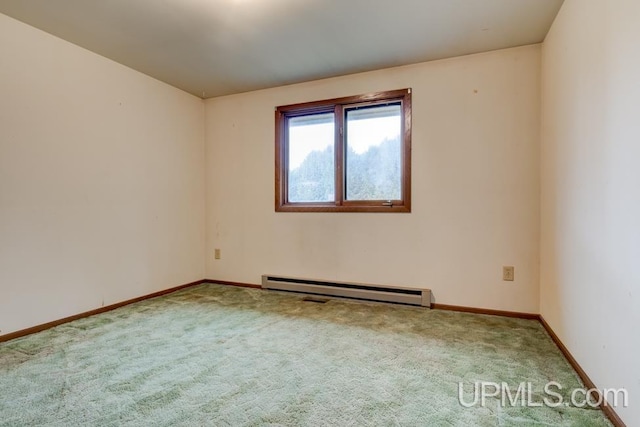
<svg viewBox="0 0 640 427">
<path fill-rule="evenodd" d="M 543 47 L 541 314 L 640 425 L 640 3 L 566 0 Z"/>
</svg>

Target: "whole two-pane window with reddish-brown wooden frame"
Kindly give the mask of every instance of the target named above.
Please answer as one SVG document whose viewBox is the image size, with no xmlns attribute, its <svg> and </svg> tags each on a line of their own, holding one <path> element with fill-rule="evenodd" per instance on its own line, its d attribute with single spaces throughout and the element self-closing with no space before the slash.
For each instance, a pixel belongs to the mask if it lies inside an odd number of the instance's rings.
<svg viewBox="0 0 640 427">
<path fill-rule="evenodd" d="M 276 109 L 276 211 L 411 212 L 411 90 Z"/>
</svg>

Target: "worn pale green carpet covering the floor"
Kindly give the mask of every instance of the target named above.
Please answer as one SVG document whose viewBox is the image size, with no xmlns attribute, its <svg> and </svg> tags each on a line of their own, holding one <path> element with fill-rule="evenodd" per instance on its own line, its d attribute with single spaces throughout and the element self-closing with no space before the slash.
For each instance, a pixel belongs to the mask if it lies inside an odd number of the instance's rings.
<svg viewBox="0 0 640 427">
<path fill-rule="evenodd" d="M 0 426 L 605 426 L 537 321 L 204 284 L 0 344 Z M 515 394 L 515 393 L 514 393 Z"/>
</svg>

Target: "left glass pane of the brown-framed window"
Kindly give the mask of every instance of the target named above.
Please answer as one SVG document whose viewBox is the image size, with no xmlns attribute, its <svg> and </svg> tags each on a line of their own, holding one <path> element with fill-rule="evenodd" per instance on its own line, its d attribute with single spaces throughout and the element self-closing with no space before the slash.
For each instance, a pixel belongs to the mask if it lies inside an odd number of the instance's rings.
<svg viewBox="0 0 640 427">
<path fill-rule="evenodd" d="M 335 201 L 333 113 L 288 119 L 289 202 Z"/>
</svg>

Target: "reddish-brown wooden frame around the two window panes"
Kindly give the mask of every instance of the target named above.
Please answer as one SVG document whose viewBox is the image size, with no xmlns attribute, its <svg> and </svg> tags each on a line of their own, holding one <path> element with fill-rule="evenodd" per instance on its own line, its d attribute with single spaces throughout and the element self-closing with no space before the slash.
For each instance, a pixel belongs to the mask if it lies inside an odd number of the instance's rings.
<svg viewBox="0 0 640 427">
<path fill-rule="evenodd" d="M 402 199 L 346 200 L 344 128 L 345 109 L 400 102 L 402 106 Z M 335 120 L 335 200 L 324 203 L 288 201 L 288 128 L 287 119 L 317 113 L 334 113 Z M 411 212 L 411 89 L 375 92 L 365 95 L 305 102 L 277 107 L 275 111 L 275 210 L 276 212 Z"/>
</svg>

